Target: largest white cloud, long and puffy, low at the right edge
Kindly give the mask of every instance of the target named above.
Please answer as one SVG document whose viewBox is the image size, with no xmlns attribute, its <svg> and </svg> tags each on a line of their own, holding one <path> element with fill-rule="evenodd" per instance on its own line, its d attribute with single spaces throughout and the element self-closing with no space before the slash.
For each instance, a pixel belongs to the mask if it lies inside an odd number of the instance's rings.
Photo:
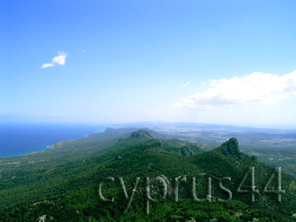
<svg viewBox="0 0 296 222">
<path fill-rule="evenodd" d="M 175 107 L 275 104 L 296 96 L 296 70 L 281 76 L 254 72 L 243 77 L 209 80 L 208 89 L 177 100 Z"/>
</svg>

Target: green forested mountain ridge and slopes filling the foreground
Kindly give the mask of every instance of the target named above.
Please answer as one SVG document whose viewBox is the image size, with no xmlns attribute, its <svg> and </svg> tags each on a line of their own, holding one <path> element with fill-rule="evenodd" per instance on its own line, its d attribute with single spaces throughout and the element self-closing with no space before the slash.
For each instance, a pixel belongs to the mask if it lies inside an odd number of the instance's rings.
<svg viewBox="0 0 296 222">
<path fill-rule="evenodd" d="M 46 215 L 45 221 L 296 221 L 292 216 L 296 213 L 295 177 L 281 174 L 285 194 L 278 202 L 278 193 L 264 191 L 273 173 L 268 189 L 276 191 L 278 172 L 241 153 L 235 138 L 203 152 L 198 144 L 170 138 L 156 140 L 150 132 L 129 130 L 108 128 L 85 139 L 57 143 L 52 150 L 35 153 L 35 163 L 26 162 L 26 156 L 3 158 L 0 220 L 42 221 Z M 67 155 L 66 150 L 70 150 Z M 20 166 L 8 164 L 8 159 L 19 161 Z M 255 167 L 255 189 L 259 190 L 255 202 L 251 193 L 237 190 L 251 166 Z M 163 186 L 155 179 L 160 175 L 167 184 L 165 200 L 161 199 Z M 108 176 L 114 177 L 114 182 L 107 181 Z M 225 176 L 231 181 L 223 180 Z M 129 198 L 140 177 L 128 212 L 124 209 L 129 200 L 119 177 Z M 149 215 L 146 177 L 151 179 L 150 193 L 157 199 L 150 200 Z M 201 202 L 192 195 L 193 177 Z M 208 177 L 212 177 L 211 196 L 207 196 Z M 114 202 L 101 200 L 101 182 L 103 195 L 114 197 Z M 229 198 L 220 182 L 232 192 L 232 200 L 219 201 Z M 251 177 L 247 176 L 241 189 L 250 191 L 250 186 Z"/>
</svg>

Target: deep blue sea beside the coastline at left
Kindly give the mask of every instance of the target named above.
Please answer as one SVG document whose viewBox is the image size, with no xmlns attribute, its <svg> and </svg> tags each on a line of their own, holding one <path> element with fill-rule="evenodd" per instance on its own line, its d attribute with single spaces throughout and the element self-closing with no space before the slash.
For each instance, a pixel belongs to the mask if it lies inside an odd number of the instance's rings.
<svg viewBox="0 0 296 222">
<path fill-rule="evenodd" d="M 105 128 L 82 124 L 0 124 L 0 157 L 42 151 L 55 142 L 83 138 Z"/>
</svg>

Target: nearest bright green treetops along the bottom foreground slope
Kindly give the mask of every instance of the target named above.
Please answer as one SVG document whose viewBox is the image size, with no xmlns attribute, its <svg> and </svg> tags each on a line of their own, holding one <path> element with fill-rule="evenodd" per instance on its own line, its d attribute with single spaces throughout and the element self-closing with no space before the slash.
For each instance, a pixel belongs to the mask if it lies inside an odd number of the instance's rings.
<svg viewBox="0 0 296 222">
<path fill-rule="evenodd" d="M 135 196 L 129 211 L 128 201 L 113 191 L 115 202 L 103 202 L 96 191 L 72 192 L 34 204 L 19 204 L 0 212 L 2 221 L 35 221 L 46 215 L 46 221 L 286 221 L 272 211 L 254 209 L 239 201 L 196 202 L 192 199 L 166 200 L 150 203 L 147 198 Z M 123 200 L 123 201 L 120 201 Z M 258 219 L 258 220 L 255 220 Z M 215 221 L 215 220 L 213 220 Z"/>
</svg>

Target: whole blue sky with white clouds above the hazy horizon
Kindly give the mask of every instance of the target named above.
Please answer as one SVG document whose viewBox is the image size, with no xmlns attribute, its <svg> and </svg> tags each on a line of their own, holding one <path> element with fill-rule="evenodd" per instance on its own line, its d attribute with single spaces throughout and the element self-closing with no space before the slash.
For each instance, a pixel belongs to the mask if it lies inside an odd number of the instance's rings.
<svg viewBox="0 0 296 222">
<path fill-rule="evenodd" d="M 0 10 L 1 121 L 296 128 L 295 1 L 2 1 Z"/>
</svg>

